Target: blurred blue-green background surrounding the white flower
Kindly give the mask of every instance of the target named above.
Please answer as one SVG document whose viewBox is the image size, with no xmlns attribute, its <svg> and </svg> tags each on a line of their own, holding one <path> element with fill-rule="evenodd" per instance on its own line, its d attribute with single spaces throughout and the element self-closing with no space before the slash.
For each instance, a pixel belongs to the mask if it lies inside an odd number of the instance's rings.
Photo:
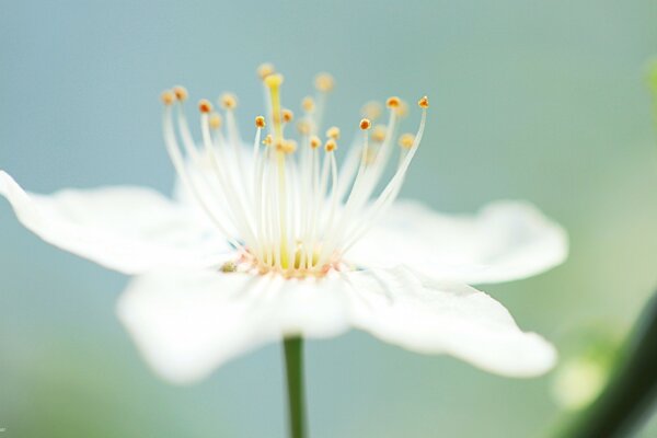
<svg viewBox="0 0 657 438">
<path fill-rule="evenodd" d="M 315 72 L 331 71 L 327 117 L 345 130 L 370 99 L 431 97 L 404 196 L 445 211 L 523 198 L 564 224 L 565 265 L 482 287 L 564 359 L 599 328 L 622 336 L 657 287 L 657 142 L 644 81 L 657 54 L 655 0 L 1 9 L 0 168 L 31 191 L 169 192 L 160 91 L 234 91 L 250 126 L 262 112 L 254 69 L 272 61 L 293 107 Z M 41 242 L 0 200 L 0 437 L 284 436 L 278 345 L 171 387 L 115 318 L 126 281 Z M 565 415 L 555 373 L 510 380 L 362 333 L 309 343 L 307 366 L 318 438 L 541 437 Z M 657 436 L 657 418 L 639 436 Z"/>
</svg>

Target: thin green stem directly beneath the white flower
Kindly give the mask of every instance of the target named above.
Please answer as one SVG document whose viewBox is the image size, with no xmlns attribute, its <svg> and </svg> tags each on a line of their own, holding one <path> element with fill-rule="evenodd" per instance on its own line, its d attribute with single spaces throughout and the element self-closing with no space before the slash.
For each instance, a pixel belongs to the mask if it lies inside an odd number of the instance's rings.
<svg viewBox="0 0 657 438">
<path fill-rule="evenodd" d="M 288 415 L 290 438 L 306 438 L 306 400 L 303 397 L 303 339 L 284 341 L 287 372 Z"/>
</svg>

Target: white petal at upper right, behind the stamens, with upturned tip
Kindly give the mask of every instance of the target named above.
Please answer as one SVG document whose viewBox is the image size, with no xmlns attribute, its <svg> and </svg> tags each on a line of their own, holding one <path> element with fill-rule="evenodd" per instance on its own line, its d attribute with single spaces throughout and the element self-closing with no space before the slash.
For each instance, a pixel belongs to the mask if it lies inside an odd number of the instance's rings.
<svg viewBox="0 0 657 438">
<path fill-rule="evenodd" d="M 359 266 L 412 266 L 466 284 L 526 278 L 561 264 L 565 231 L 529 204 L 497 201 L 476 216 L 448 216 L 417 201 L 393 205 L 346 254 Z"/>
</svg>

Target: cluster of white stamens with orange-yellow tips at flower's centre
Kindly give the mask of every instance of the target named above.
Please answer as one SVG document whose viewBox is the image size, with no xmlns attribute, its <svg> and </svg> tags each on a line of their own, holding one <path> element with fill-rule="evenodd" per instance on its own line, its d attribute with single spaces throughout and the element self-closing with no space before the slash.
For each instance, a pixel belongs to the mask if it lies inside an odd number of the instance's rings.
<svg viewBox="0 0 657 438">
<path fill-rule="evenodd" d="M 240 251 L 240 257 L 223 265 L 222 270 L 256 269 L 303 277 L 341 269 L 343 255 L 396 198 L 422 139 L 428 99 L 418 101 L 422 119 L 417 134 L 399 137 L 396 170 L 377 193 L 407 105 L 399 97 L 388 99 L 388 123 L 372 125 L 382 107 L 367 104 L 358 125 L 361 134 L 338 169 L 335 151 L 341 130 L 335 126 L 321 130 L 333 78 L 327 73 L 315 77 L 316 95 L 301 102 L 295 140 L 289 135 L 295 114 L 280 103 L 283 76 L 268 64 L 258 68 L 258 74 L 267 112 L 255 117 L 252 148 L 240 137 L 233 94 L 219 97 L 223 116 L 208 100 L 199 101 L 198 146 L 184 113 L 187 91 L 182 87 L 164 91 L 169 155 L 200 208 Z"/>
</svg>

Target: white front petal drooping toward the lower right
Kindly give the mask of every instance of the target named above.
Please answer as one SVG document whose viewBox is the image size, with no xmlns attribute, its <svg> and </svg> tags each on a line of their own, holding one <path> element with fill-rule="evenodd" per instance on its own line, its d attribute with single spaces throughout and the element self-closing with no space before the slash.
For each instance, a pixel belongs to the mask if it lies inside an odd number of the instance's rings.
<svg viewBox="0 0 657 438">
<path fill-rule="evenodd" d="M 554 347 L 518 328 L 484 292 L 454 283 L 427 283 L 406 268 L 349 274 L 351 320 L 382 341 L 418 353 L 443 353 L 509 377 L 553 367 Z"/>
</svg>

